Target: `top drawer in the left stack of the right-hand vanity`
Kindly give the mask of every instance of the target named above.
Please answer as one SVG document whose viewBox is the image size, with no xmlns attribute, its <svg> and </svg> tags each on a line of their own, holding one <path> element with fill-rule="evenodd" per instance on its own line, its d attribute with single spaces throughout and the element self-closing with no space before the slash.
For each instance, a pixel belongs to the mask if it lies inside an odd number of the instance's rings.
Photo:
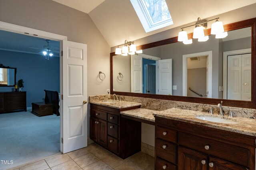
<svg viewBox="0 0 256 170">
<path fill-rule="evenodd" d="M 156 126 L 156 138 L 163 139 L 165 141 L 177 142 L 177 131 L 166 129 L 164 127 Z"/>
</svg>

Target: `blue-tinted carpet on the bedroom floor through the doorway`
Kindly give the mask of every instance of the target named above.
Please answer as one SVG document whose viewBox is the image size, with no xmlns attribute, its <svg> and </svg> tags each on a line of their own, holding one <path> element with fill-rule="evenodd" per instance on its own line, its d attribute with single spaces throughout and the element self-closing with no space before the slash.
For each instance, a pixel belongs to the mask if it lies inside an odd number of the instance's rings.
<svg viewBox="0 0 256 170">
<path fill-rule="evenodd" d="M 60 150 L 60 116 L 31 112 L 0 114 L 0 170 L 56 154 Z M 12 160 L 3 164 L 1 160 Z"/>
</svg>

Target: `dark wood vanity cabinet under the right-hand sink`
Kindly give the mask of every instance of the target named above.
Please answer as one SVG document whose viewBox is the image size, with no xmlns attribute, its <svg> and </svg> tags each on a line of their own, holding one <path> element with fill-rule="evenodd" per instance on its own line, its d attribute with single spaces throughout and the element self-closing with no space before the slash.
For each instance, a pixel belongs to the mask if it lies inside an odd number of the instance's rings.
<svg viewBox="0 0 256 170">
<path fill-rule="evenodd" d="M 255 169 L 253 136 L 156 117 L 155 137 L 156 169 L 160 163 L 178 170 Z"/>
</svg>

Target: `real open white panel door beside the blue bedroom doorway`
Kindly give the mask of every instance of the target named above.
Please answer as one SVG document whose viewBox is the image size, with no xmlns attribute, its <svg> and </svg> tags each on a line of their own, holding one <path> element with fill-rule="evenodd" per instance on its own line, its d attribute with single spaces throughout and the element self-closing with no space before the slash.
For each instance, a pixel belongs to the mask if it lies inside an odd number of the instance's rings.
<svg viewBox="0 0 256 170">
<path fill-rule="evenodd" d="M 87 45 L 63 41 L 63 153 L 87 147 Z"/>
</svg>

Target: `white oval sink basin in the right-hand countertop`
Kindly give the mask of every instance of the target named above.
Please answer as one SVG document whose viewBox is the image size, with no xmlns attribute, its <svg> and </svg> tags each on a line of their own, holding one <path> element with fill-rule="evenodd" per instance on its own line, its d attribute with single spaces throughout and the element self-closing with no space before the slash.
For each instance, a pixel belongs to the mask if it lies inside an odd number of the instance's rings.
<svg viewBox="0 0 256 170">
<path fill-rule="evenodd" d="M 216 123 L 226 123 L 226 124 L 236 124 L 238 122 L 224 117 L 217 117 L 214 115 L 196 115 L 197 119 L 205 120 L 205 121 L 211 121 Z"/>
</svg>

